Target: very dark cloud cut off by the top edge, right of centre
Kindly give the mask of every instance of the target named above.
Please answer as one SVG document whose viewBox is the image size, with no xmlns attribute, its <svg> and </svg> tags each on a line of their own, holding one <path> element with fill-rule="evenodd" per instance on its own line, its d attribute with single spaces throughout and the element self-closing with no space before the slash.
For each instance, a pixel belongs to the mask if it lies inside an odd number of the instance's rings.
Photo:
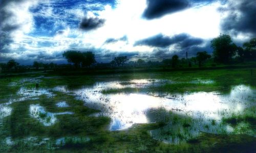
<svg viewBox="0 0 256 153">
<path fill-rule="evenodd" d="M 161 17 L 167 13 L 174 13 L 186 9 L 188 1 L 180 0 L 147 0 L 147 8 L 143 16 L 147 19 Z"/>
</svg>

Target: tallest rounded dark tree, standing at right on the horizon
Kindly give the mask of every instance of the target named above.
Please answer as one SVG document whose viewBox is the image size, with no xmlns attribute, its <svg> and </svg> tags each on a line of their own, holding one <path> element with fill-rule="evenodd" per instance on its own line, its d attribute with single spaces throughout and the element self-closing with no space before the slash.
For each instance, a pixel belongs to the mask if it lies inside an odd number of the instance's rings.
<svg viewBox="0 0 256 153">
<path fill-rule="evenodd" d="M 220 35 L 211 40 L 211 47 L 214 49 L 214 58 L 217 62 L 228 63 L 236 53 L 237 46 L 232 43 L 229 35 Z"/>
</svg>

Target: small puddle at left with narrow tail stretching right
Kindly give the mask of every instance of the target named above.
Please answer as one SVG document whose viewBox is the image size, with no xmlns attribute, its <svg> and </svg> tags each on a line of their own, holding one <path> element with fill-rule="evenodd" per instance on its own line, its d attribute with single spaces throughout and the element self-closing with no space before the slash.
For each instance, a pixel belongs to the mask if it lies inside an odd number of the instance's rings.
<svg viewBox="0 0 256 153">
<path fill-rule="evenodd" d="M 56 115 L 73 114 L 73 112 L 50 113 L 45 111 L 39 104 L 32 104 L 29 108 L 30 116 L 39 120 L 45 126 L 51 126 L 56 121 Z"/>
</svg>

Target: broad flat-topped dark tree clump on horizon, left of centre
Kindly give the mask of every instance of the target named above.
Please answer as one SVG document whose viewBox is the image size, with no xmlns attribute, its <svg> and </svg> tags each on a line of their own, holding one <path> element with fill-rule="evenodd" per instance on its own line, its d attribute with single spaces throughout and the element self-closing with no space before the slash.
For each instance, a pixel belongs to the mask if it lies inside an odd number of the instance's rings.
<svg viewBox="0 0 256 153">
<path fill-rule="evenodd" d="M 95 56 L 92 52 L 76 52 L 76 51 L 68 51 L 62 54 L 69 63 L 74 63 L 75 67 L 78 68 L 80 66 L 90 66 L 95 63 Z"/>
</svg>

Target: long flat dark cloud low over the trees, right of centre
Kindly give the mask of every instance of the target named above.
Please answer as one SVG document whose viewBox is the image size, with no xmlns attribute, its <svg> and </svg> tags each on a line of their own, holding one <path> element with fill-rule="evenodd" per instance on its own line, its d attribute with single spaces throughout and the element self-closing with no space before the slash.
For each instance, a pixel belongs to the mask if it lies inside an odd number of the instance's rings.
<svg viewBox="0 0 256 153">
<path fill-rule="evenodd" d="M 203 43 L 203 40 L 200 38 L 194 38 L 189 36 L 188 34 L 179 34 L 173 37 L 164 36 L 162 34 L 158 34 L 156 36 L 146 38 L 143 40 L 139 40 L 135 42 L 135 46 L 137 45 L 147 45 L 152 47 L 168 47 L 172 44 L 177 44 L 182 48 L 199 45 Z"/>
</svg>

